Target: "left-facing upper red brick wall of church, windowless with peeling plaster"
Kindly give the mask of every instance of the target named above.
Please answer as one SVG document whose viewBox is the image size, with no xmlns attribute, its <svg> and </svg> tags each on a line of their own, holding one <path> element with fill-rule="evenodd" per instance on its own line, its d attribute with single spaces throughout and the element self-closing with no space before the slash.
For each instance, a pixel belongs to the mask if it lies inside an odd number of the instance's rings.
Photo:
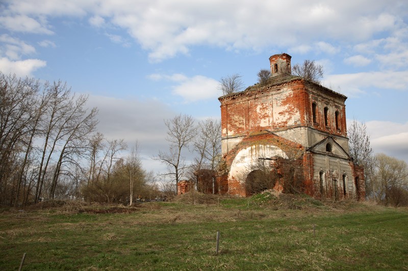
<svg viewBox="0 0 408 271">
<path fill-rule="evenodd" d="M 273 106 L 273 101 L 277 100 L 279 106 Z M 308 125 L 307 110 L 310 111 L 311 106 L 308 101 L 309 94 L 301 79 L 222 97 L 220 98 L 222 136 L 242 136 L 260 130 Z M 282 111 L 276 112 L 278 109 Z M 272 113 L 273 111 L 275 112 Z M 279 118 L 284 115 L 287 121 Z M 292 123 L 291 117 L 299 120 Z"/>
</svg>

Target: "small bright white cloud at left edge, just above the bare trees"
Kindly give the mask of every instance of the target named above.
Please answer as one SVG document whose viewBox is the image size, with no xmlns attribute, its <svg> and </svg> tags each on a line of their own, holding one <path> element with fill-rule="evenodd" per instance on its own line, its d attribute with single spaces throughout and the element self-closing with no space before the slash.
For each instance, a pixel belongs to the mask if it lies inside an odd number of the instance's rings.
<svg viewBox="0 0 408 271">
<path fill-rule="evenodd" d="M 23 61 L 10 61 L 6 57 L 0 58 L 0 69 L 3 73 L 15 73 L 19 77 L 31 76 L 31 74 L 42 67 L 46 62 L 40 59 L 25 59 Z"/>
</svg>

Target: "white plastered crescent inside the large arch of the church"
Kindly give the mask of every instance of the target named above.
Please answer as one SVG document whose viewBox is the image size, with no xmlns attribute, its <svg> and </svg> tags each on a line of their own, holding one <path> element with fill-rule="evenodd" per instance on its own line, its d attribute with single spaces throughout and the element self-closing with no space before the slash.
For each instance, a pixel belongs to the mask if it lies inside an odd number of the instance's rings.
<svg viewBox="0 0 408 271">
<path fill-rule="evenodd" d="M 241 149 L 234 161 L 231 164 L 231 170 L 228 174 L 228 179 L 233 177 L 241 184 L 245 183 L 245 179 L 250 172 L 250 168 L 256 165 L 261 158 L 282 157 L 288 159 L 286 153 L 274 145 L 252 145 Z"/>
</svg>

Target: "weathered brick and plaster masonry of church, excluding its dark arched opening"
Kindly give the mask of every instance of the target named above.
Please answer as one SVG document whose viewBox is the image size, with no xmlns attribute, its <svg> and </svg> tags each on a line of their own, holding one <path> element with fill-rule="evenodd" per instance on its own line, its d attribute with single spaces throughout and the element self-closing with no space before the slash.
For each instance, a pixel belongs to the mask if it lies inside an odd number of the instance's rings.
<svg viewBox="0 0 408 271">
<path fill-rule="evenodd" d="M 349 157 L 345 111 L 347 97 L 292 76 L 289 72 L 290 61 L 288 54 L 271 56 L 272 76 L 268 84 L 254 85 L 243 92 L 219 98 L 223 160 L 217 182 L 227 183 L 230 194 L 246 196 L 245 176 L 242 176 L 244 169 L 233 165 L 242 166 L 243 161 L 253 163 L 256 160 L 254 157 L 245 160 L 242 151 L 253 156 L 262 149 L 268 149 L 269 153 L 275 152 L 285 157 L 286 161 L 296 161 L 292 165 L 293 168 L 301 168 L 305 193 L 316 197 L 323 195 L 319 184 L 319 171 L 323 171 L 327 172 L 324 196 L 364 198 L 363 171 L 356 168 Z M 315 112 L 313 104 L 316 105 Z M 314 161 L 321 161 L 321 158 L 315 157 L 313 149 L 327 137 L 334 138 L 339 149 L 342 149 L 338 152 L 341 155 L 327 152 L 326 163 L 319 162 L 321 166 L 317 166 Z M 322 153 L 319 154 L 321 157 Z M 237 162 L 237 159 L 240 161 Z M 344 167 L 345 164 L 349 164 L 348 169 Z M 350 176 L 347 178 L 349 182 L 354 180 L 354 184 L 347 183 L 347 187 L 341 184 L 340 171 L 348 172 Z M 358 183 L 355 183 L 356 177 Z M 343 189 L 350 193 L 344 195 Z"/>
</svg>

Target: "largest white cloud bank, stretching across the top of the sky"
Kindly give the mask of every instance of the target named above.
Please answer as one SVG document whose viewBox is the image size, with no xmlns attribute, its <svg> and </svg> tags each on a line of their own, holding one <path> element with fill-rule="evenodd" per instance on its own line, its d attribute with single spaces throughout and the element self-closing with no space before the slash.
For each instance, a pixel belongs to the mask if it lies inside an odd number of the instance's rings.
<svg viewBox="0 0 408 271">
<path fill-rule="evenodd" d="M 35 1 L 21 0 L 9 4 L 3 25 L 15 31 L 51 34 L 41 16 L 88 15 L 94 26 L 123 28 L 149 51 L 154 62 L 188 55 L 195 45 L 254 51 L 270 46 L 294 47 L 305 52 L 307 46 L 298 46 L 303 43 L 314 44 L 317 53 L 333 54 L 339 50 L 336 44 L 344 42 L 367 42 L 374 35 L 384 34 L 404 37 L 401 29 L 406 28 L 403 19 L 407 5 L 398 0 L 377 1 L 369 7 L 359 1 L 344 4 L 319 0 L 151 0 L 138 5 L 131 0 L 43 0 L 38 8 Z"/>
</svg>

